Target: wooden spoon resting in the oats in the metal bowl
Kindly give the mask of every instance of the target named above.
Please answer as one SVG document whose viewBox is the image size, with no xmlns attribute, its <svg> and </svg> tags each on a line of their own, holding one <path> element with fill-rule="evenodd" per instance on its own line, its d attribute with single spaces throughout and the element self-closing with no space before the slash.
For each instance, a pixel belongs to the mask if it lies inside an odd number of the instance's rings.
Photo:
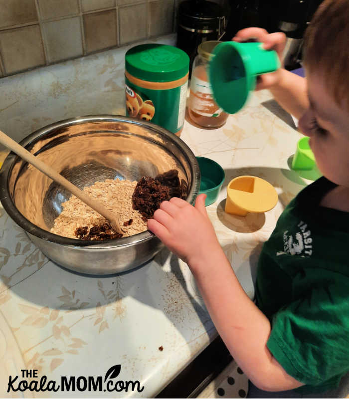
<svg viewBox="0 0 349 399">
<path fill-rule="evenodd" d="M 70 183 L 67 179 L 65 179 L 62 175 L 58 172 L 53 170 L 51 167 L 40 161 L 37 157 L 29 153 L 24 147 L 20 146 L 6 134 L 1 132 L 0 130 L 0 143 L 6 146 L 9 150 L 13 151 L 17 154 L 20 158 L 24 159 L 25 161 L 29 162 L 29 164 L 35 166 L 39 171 L 44 173 L 50 179 L 59 183 L 65 189 L 67 189 L 71 194 L 77 197 L 79 200 L 85 202 L 88 206 L 94 209 L 96 212 L 101 214 L 103 217 L 109 220 L 110 225 L 112 226 L 113 230 L 120 234 L 124 234 L 121 230 L 119 225 L 119 217 L 115 215 L 110 210 L 108 210 L 103 204 L 96 200 L 92 200 L 87 194 L 83 191 L 79 190 L 76 186 Z"/>
</svg>

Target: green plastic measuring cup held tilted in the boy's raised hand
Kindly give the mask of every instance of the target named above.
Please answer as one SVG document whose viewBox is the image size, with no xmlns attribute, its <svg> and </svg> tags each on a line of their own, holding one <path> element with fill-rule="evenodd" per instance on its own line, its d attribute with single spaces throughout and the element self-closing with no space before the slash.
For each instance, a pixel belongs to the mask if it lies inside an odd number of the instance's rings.
<svg viewBox="0 0 349 399">
<path fill-rule="evenodd" d="M 265 50 L 260 42 L 225 41 L 212 54 L 209 79 L 213 98 L 229 114 L 244 106 L 249 92 L 256 87 L 258 75 L 280 67 L 276 51 Z"/>
</svg>

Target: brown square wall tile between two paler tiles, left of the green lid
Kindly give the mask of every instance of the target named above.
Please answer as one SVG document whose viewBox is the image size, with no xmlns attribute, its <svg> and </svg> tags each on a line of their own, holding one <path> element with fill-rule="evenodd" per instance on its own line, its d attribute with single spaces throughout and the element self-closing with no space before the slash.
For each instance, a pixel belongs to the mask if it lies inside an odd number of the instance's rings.
<svg viewBox="0 0 349 399">
<path fill-rule="evenodd" d="M 116 10 L 83 15 L 86 51 L 117 45 Z"/>
</svg>

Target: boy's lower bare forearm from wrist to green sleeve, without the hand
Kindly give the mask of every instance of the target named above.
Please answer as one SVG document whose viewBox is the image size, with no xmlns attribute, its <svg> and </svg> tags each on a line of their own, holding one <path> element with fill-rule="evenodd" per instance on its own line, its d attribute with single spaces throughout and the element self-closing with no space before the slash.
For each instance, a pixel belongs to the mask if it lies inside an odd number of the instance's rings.
<svg viewBox="0 0 349 399">
<path fill-rule="evenodd" d="M 242 289 L 221 247 L 201 255 L 189 267 L 212 321 L 237 364 L 264 391 L 302 386 L 267 348 L 270 322 Z"/>
</svg>

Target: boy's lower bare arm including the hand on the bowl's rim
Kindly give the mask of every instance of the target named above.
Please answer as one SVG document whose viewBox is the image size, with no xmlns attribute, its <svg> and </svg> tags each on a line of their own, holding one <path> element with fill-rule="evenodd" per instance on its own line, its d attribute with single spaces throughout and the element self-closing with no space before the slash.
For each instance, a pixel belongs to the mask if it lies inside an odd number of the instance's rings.
<svg viewBox="0 0 349 399">
<path fill-rule="evenodd" d="M 173 198 L 162 202 L 148 228 L 193 273 L 212 321 L 233 358 L 260 389 L 284 391 L 303 385 L 289 376 L 267 348 L 271 326 L 248 298 L 226 258 L 204 206 Z"/>
</svg>

